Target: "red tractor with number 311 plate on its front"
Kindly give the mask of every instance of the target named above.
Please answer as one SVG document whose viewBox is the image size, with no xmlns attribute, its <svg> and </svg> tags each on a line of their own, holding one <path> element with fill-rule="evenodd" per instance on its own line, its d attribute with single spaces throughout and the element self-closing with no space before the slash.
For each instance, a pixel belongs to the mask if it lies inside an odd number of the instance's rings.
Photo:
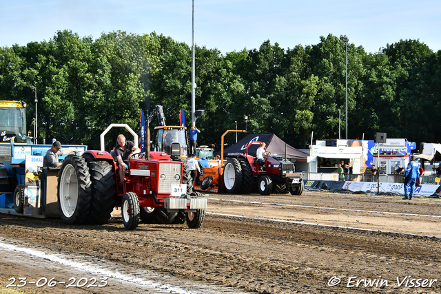
<svg viewBox="0 0 441 294">
<path fill-rule="evenodd" d="M 183 162 L 164 152 L 132 158 L 122 183 L 117 165 L 105 151 L 70 155 L 59 173 L 58 202 L 67 224 L 105 224 L 114 207 L 121 207 L 126 229 L 135 229 L 139 219 L 148 223 L 201 227 L 207 199 L 193 193 L 192 178 Z"/>
</svg>

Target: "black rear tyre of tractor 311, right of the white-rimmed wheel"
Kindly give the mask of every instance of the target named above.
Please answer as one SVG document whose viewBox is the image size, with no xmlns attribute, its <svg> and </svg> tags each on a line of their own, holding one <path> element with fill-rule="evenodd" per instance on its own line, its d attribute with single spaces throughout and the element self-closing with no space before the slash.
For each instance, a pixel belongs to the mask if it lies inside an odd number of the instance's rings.
<svg viewBox="0 0 441 294">
<path fill-rule="evenodd" d="M 92 206 L 90 207 L 90 224 L 107 224 L 110 213 L 116 205 L 116 191 L 112 165 L 105 160 L 89 162 L 92 178 Z"/>
</svg>

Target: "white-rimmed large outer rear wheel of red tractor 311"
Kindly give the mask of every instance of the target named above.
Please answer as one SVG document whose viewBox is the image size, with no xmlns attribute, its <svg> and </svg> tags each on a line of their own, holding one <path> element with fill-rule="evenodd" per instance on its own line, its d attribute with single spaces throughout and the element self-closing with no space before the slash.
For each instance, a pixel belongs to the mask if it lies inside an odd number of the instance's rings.
<svg viewBox="0 0 441 294">
<path fill-rule="evenodd" d="M 65 224 L 85 224 L 92 202 L 88 165 L 81 156 L 68 155 L 61 165 L 57 198 Z"/>
</svg>

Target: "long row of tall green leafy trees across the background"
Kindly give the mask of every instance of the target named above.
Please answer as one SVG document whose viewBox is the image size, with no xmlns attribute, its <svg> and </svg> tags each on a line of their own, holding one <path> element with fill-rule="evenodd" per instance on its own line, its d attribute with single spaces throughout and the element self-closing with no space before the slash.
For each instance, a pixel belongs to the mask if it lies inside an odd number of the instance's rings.
<svg viewBox="0 0 441 294">
<path fill-rule="evenodd" d="M 347 44 L 349 139 L 407 138 L 438 143 L 441 50 L 400 40 L 379 52 Z M 316 45 L 260 48 L 222 54 L 195 46 L 199 145 L 219 144 L 227 129 L 274 133 L 305 148 L 314 140 L 341 138 L 346 129 L 346 43 L 321 36 Z M 140 111 L 163 105 L 167 125 L 184 109 L 190 123 L 192 48 L 162 34 L 103 33 L 99 39 L 59 31 L 50 41 L 0 48 L 0 100 L 28 103 L 34 123 L 37 87 L 39 137 L 99 148 L 110 123 L 140 128 Z M 248 117 L 245 123 L 245 116 Z M 339 119 L 339 116 L 341 119 Z M 153 124 L 154 125 L 154 124 Z M 114 130 L 106 137 L 114 145 Z M 235 136 L 225 138 L 234 143 Z"/>
</svg>

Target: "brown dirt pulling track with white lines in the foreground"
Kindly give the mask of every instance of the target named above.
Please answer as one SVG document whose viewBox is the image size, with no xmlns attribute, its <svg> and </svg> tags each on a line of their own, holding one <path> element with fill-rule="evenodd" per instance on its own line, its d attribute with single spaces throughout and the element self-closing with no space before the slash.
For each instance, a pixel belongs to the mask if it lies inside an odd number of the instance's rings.
<svg viewBox="0 0 441 294">
<path fill-rule="evenodd" d="M 0 215 L 0 241 L 81 254 L 112 262 L 116 268 L 231 286 L 234 292 L 441 293 L 440 200 L 311 192 L 266 197 L 213 194 L 207 213 L 201 229 L 141 223 L 135 231 L 126 231 L 118 219 L 103 226 L 68 226 L 61 220 Z M 12 254 L 1 247 L 0 252 Z M 72 269 L 59 271 L 11 259 L 0 260 L 0 288 L 10 277 L 80 276 Z M 329 286 L 338 279 L 340 284 Z M 357 286 L 361 279 L 367 281 Z M 113 281 L 93 289 L 62 285 L 24 289 L 147 293 Z"/>
</svg>

